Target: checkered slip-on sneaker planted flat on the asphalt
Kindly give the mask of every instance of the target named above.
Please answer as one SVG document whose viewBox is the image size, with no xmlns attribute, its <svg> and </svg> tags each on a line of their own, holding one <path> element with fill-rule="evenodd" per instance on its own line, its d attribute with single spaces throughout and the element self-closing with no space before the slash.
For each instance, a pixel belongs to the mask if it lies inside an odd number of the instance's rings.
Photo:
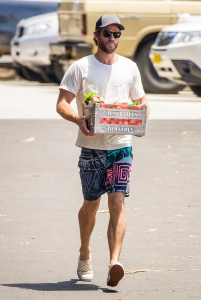
<svg viewBox="0 0 201 300">
<path fill-rule="evenodd" d="M 77 276 L 81 281 L 92 281 L 94 276 L 92 270 L 91 253 L 90 253 L 90 260 L 80 260 L 80 253 L 79 253 Z"/>
</svg>

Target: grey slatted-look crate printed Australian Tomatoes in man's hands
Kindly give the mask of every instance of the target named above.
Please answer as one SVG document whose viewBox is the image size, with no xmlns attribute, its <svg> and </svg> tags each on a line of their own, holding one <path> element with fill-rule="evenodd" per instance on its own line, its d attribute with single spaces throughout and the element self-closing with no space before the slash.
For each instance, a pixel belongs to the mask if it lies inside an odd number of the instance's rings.
<svg viewBox="0 0 201 300">
<path fill-rule="evenodd" d="M 146 134 L 147 106 L 83 103 L 83 115 L 90 117 L 87 126 L 92 133 Z"/>
</svg>

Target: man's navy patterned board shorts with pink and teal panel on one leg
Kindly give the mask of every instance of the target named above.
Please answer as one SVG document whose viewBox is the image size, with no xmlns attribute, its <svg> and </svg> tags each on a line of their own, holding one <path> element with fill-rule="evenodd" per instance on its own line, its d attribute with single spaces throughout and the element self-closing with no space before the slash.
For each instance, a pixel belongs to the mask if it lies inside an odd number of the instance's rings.
<svg viewBox="0 0 201 300">
<path fill-rule="evenodd" d="M 132 158 L 132 147 L 109 151 L 81 148 L 78 167 L 84 199 L 94 201 L 106 192 L 129 196 Z"/>
</svg>

